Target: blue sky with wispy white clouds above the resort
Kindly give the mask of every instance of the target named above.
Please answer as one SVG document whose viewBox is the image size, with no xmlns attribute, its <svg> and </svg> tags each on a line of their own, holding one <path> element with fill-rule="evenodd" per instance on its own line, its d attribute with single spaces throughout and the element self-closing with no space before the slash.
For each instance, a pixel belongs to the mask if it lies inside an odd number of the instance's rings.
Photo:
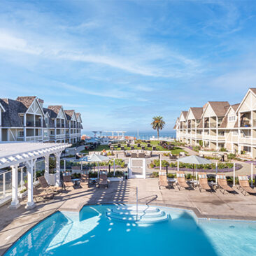
<svg viewBox="0 0 256 256">
<path fill-rule="evenodd" d="M 85 130 L 238 103 L 255 49 L 255 1 L 0 1 L 0 97 L 75 108 Z"/>
</svg>

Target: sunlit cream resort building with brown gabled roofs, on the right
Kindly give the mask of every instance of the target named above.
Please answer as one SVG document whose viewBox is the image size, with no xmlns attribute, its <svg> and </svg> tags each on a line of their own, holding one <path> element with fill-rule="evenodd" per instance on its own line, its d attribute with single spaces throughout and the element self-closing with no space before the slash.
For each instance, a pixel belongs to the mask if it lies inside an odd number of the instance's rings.
<svg viewBox="0 0 256 256">
<path fill-rule="evenodd" d="M 182 111 L 174 126 L 178 141 L 220 150 L 226 148 L 246 157 L 256 157 L 256 88 L 250 88 L 241 103 L 208 101 L 203 107 Z"/>
</svg>

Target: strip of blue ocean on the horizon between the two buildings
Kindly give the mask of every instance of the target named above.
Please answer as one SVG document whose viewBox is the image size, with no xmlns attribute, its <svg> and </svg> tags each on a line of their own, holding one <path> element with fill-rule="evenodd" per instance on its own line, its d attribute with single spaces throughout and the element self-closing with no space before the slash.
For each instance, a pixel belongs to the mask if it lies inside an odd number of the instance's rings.
<svg viewBox="0 0 256 256">
<path fill-rule="evenodd" d="M 87 136 L 94 136 L 92 131 L 83 131 L 83 134 L 87 135 Z M 99 135 L 99 133 L 97 134 Z M 102 135 L 106 136 L 112 136 L 111 133 L 102 133 Z M 114 134 L 115 136 L 117 136 L 117 134 Z M 121 134 L 120 134 L 121 135 Z M 152 130 L 152 131 L 127 131 L 125 133 L 125 136 L 133 136 L 139 139 L 149 139 L 151 136 L 155 136 L 157 137 L 157 131 Z M 171 138 L 176 138 L 176 131 L 159 131 L 159 136 L 160 137 L 171 137 Z"/>
</svg>

